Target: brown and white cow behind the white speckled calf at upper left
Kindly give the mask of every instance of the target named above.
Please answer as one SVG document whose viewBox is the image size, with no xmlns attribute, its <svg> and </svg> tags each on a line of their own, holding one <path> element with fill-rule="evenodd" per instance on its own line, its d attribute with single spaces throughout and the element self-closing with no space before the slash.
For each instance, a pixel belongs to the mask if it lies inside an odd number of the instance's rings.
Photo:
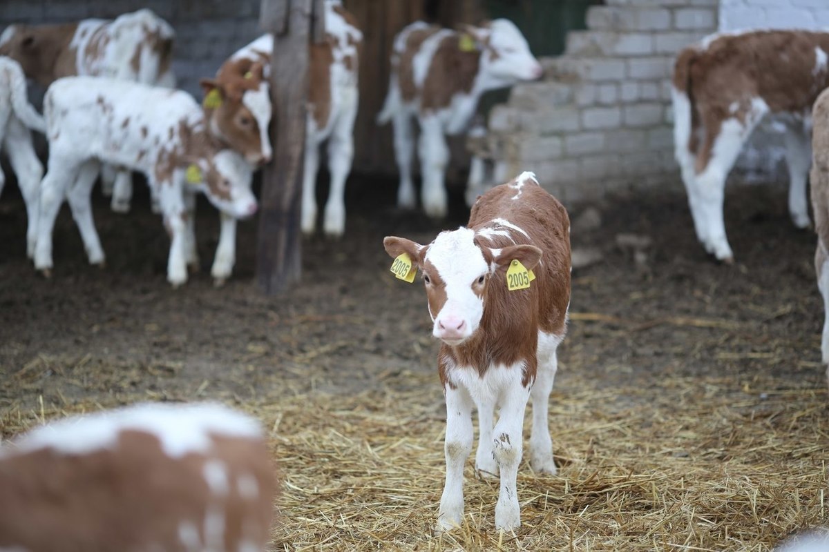
<svg viewBox="0 0 829 552">
<path fill-rule="evenodd" d="M 0 55 L 17 60 L 27 77 L 44 87 L 61 77 L 92 75 L 172 88 L 175 36 L 161 17 L 141 9 L 114 20 L 10 25 L 0 34 Z M 112 190 L 112 209 L 126 213 L 133 194 L 128 172 L 115 175 L 105 167 L 103 176 L 104 191 Z"/>
</svg>

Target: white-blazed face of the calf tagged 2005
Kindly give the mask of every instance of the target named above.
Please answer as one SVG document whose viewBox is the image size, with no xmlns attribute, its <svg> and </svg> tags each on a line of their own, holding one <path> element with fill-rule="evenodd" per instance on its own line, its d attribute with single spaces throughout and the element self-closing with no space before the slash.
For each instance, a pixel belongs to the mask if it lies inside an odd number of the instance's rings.
<svg viewBox="0 0 829 552">
<path fill-rule="evenodd" d="M 483 315 L 483 298 L 475 286 L 486 281 L 490 267 L 474 237 L 469 228 L 440 233 L 424 258 L 429 314 L 434 320 L 432 334 L 450 345 L 473 335 Z M 432 267 L 434 274 L 430 274 Z"/>
</svg>

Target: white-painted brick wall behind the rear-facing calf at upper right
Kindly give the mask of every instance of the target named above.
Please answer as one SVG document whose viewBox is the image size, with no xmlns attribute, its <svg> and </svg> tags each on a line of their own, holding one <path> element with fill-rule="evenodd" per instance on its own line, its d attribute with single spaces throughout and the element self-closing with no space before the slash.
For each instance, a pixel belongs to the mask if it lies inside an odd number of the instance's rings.
<svg viewBox="0 0 829 552">
<path fill-rule="evenodd" d="M 829 0 L 720 0 L 720 31 L 829 28 Z M 761 127 L 734 167 L 738 180 L 788 182 L 783 138 Z"/>
</svg>

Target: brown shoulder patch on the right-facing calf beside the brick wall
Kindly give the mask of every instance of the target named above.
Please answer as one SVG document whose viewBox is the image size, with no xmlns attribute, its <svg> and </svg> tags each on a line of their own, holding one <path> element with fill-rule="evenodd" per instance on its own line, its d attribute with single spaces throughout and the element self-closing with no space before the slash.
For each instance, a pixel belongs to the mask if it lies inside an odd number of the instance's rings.
<svg viewBox="0 0 829 552">
<path fill-rule="evenodd" d="M 480 64 L 479 50 L 462 51 L 457 34 L 446 36 L 426 72 L 420 107 L 424 110 L 446 108 L 455 94 L 470 92 Z"/>
</svg>

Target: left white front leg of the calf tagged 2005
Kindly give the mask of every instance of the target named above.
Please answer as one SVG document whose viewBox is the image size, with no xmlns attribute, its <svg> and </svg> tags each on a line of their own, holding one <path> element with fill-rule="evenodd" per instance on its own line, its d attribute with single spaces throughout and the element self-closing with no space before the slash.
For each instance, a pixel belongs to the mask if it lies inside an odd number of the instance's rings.
<svg viewBox="0 0 829 552">
<path fill-rule="evenodd" d="M 463 387 L 445 387 L 446 484 L 440 497 L 437 530 L 449 530 L 463 521 L 463 464 L 472 452 L 472 397 Z"/>
</svg>

